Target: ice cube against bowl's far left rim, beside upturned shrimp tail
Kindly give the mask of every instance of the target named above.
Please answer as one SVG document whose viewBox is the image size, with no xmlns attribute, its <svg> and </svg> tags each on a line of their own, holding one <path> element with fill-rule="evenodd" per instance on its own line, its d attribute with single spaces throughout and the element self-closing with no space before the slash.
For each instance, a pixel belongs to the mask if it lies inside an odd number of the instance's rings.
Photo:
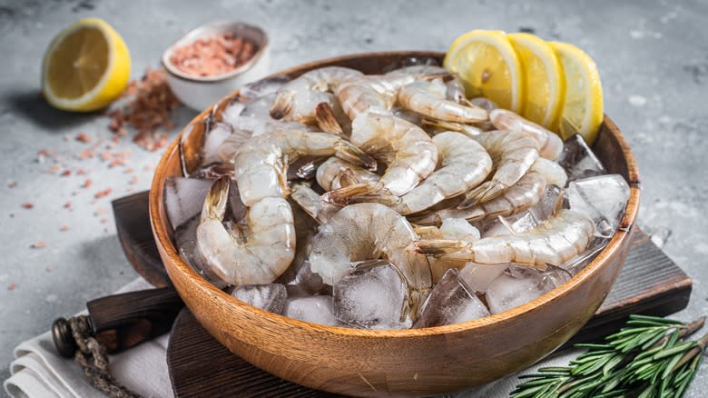
<svg viewBox="0 0 708 398">
<path fill-rule="evenodd" d="M 184 224 L 202 212 L 204 198 L 213 181 L 199 178 L 170 177 L 164 186 L 164 204 L 172 228 Z"/>
</svg>

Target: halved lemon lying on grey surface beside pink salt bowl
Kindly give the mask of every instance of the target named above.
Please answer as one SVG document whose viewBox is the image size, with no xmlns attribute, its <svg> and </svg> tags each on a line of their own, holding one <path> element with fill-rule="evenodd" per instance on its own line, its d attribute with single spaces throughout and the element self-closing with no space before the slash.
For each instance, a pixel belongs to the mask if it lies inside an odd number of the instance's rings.
<svg viewBox="0 0 708 398">
<path fill-rule="evenodd" d="M 44 53 L 42 90 L 59 109 L 94 111 L 123 92 L 130 72 L 123 38 L 101 19 L 82 19 L 56 35 Z"/>
</svg>

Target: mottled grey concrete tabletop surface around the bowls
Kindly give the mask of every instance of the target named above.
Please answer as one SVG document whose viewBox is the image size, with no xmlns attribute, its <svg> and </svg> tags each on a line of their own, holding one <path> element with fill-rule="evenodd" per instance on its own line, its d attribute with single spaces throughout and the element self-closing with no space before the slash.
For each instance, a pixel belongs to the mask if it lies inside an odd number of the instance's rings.
<svg viewBox="0 0 708 398">
<path fill-rule="evenodd" d="M 377 50 L 445 50 L 474 28 L 533 29 L 575 43 L 595 58 L 605 88 L 605 111 L 623 129 L 643 183 L 641 218 L 672 231 L 666 252 L 694 282 L 683 320 L 708 313 L 708 2 L 334 2 L 221 1 L 101 2 L 0 0 L 0 380 L 15 344 L 44 332 L 57 315 L 75 313 L 88 299 L 109 294 L 135 277 L 115 236 L 110 200 L 147 189 L 159 153 L 130 140 L 133 174 L 104 162 L 65 161 L 87 175 L 43 170 L 37 151 L 71 157 L 110 136 L 100 114 L 64 114 L 40 98 L 42 55 L 52 36 L 74 20 L 99 16 L 125 38 L 133 77 L 158 65 L 166 45 L 185 31 L 219 19 L 262 25 L 272 41 L 273 69 L 334 55 Z M 189 111 L 178 114 L 183 124 Z M 171 136 L 174 136 L 172 134 Z M 93 180 L 81 188 L 84 178 Z M 9 184 L 17 182 L 15 188 Z M 92 203 L 104 188 L 113 192 Z M 23 203 L 33 203 L 26 210 Z M 71 202 L 73 211 L 64 209 Z M 102 214 L 106 212 L 105 214 Z M 105 218 L 104 224 L 101 219 Z M 60 231 L 66 224 L 69 231 Z M 665 232 L 665 230 L 664 230 Z M 33 249 L 36 241 L 46 247 Z M 14 288 L 13 288 L 14 286 Z M 708 365 L 688 394 L 705 396 Z"/>
</svg>

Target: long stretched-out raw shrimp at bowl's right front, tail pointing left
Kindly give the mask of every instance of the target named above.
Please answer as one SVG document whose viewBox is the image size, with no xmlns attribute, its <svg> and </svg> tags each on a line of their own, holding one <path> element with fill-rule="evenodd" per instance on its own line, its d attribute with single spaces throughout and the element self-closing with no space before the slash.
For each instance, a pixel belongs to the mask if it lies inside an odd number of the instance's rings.
<svg viewBox="0 0 708 398">
<path fill-rule="evenodd" d="M 538 267 L 560 265 L 582 253 L 595 234 L 593 220 L 562 209 L 544 224 L 521 234 L 463 240 L 428 240 L 412 244 L 418 253 L 478 264 L 519 263 Z"/>
</svg>

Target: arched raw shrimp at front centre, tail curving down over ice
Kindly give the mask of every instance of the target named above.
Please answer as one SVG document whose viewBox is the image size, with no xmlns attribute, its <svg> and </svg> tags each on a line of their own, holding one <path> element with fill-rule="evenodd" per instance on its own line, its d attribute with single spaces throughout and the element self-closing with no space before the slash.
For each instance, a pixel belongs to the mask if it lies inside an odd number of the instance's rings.
<svg viewBox="0 0 708 398">
<path fill-rule="evenodd" d="M 406 217 L 383 204 L 352 204 L 320 226 L 312 243 L 310 267 L 333 285 L 349 274 L 353 262 L 386 259 L 405 276 L 411 303 L 417 307 L 432 281 L 428 259 L 410 247 L 416 239 Z"/>
</svg>

